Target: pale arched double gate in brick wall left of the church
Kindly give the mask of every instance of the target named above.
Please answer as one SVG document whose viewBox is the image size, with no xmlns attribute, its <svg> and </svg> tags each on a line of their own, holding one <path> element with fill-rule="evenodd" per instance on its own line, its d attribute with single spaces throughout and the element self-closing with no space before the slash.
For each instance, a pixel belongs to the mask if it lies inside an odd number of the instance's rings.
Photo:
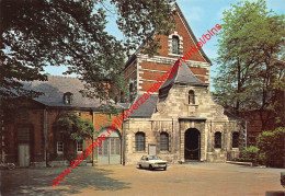
<svg viewBox="0 0 285 196">
<path fill-rule="evenodd" d="M 98 137 L 102 134 L 109 136 L 107 128 L 102 129 Z M 117 130 L 114 130 L 101 147 L 98 147 L 98 164 L 121 164 L 121 137 Z"/>
</svg>

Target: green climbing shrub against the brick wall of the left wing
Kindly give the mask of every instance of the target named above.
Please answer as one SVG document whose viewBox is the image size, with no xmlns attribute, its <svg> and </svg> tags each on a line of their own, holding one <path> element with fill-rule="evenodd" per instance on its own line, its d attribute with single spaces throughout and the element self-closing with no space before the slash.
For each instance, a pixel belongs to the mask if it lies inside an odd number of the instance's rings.
<svg viewBox="0 0 285 196">
<path fill-rule="evenodd" d="M 54 123 L 54 129 L 61 132 L 65 141 L 81 141 L 93 136 L 94 126 L 89 119 L 82 119 L 75 113 L 60 113 Z"/>
</svg>

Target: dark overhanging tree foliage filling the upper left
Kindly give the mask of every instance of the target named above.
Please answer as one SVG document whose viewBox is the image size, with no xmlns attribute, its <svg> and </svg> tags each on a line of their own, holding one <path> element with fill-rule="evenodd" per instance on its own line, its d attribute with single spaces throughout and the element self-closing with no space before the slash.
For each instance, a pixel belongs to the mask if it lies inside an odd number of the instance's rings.
<svg viewBox="0 0 285 196">
<path fill-rule="evenodd" d="M 109 100 L 123 90 L 125 53 L 172 28 L 172 0 L 1 0 L 0 96 L 36 96 L 21 81 L 46 80 L 44 67 L 67 66 L 87 82 L 84 95 Z M 125 39 L 106 30 L 109 7 Z"/>
</svg>

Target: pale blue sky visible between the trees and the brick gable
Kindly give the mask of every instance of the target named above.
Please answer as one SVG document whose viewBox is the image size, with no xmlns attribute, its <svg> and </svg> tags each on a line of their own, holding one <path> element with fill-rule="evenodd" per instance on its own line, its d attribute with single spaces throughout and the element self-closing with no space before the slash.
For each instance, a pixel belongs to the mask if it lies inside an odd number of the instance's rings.
<svg viewBox="0 0 285 196">
<path fill-rule="evenodd" d="M 216 24 L 221 23 L 223 11 L 229 9 L 231 3 L 237 3 L 240 0 L 176 0 L 180 9 L 182 10 L 186 21 L 189 22 L 194 35 L 201 37 L 207 30 L 214 27 Z M 250 0 L 255 1 L 255 0 Z M 285 0 L 266 0 L 267 8 L 277 14 L 285 14 Z M 109 16 L 110 23 L 106 27 L 107 32 L 122 38 L 121 32 L 115 27 L 115 18 Z M 213 60 L 217 57 L 217 37 L 210 38 L 203 46 L 203 50 L 212 60 L 210 77 L 215 76 L 215 70 L 218 65 Z M 55 76 L 61 76 L 66 70 L 65 67 L 47 67 L 46 72 Z"/>
</svg>

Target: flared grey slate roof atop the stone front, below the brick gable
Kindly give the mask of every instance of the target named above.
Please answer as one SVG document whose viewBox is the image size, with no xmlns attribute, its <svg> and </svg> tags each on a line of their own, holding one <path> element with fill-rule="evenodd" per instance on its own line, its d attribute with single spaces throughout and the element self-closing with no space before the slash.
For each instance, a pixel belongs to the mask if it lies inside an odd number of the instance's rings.
<svg viewBox="0 0 285 196">
<path fill-rule="evenodd" d="M 189 66 L 181 61 L 182 66 L 178 66 L 178 71 L 173 74 L 173 78 L 168 78 L 167 81 L 160 87 L 161 89 L 172 85 L 174 83 L 185 83 L 191 85 L 207 85 L 195 77 L 195 74 L 190 70 Z M 174 66 L 172 67 L 172 70 Z M 174 71 L 173 71 L 174 72 Z"/>
</svg>

